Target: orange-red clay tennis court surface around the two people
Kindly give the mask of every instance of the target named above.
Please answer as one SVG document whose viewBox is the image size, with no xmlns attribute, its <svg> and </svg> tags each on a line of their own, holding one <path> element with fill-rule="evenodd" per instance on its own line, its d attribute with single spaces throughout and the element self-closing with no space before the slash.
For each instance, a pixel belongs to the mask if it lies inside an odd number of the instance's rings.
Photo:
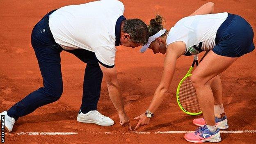
<svg viewBox="0 0 256 144">
<path fill-rule="evenodd" d="M 149 23 L 155 14 L 162 15 L 170 29 L 179 19 L 190 15 L 208 0 L 121 0 L 126 18 L 140 18 Z M 245 18 L 256 37 L 256 2 L 254 0 L 211 0 L 215 13 L 229 12 Z M 0 111 L 42 86 L 37 59 L 30 43 L 34 25 L 49 11 L 65 5 L 89 0 L 2 0 L 0 4 Z M 256 40 L 254 38 L 254 43 Z M 151 50 L 139 53 L 139 48 L 119 46 L 116 56 L 118 78 L 122 87 L 125 110 L 133 128 L 133 117 L 142 114 L 149 105 L 163 71 L 164 55 Z M 202 54 L 199 55 L 202 56 Z M 62 52 L 64 92 L 59 101 L 40 107 L 19 118 L 13 132 L 5 136 L 7 144 L 188 144 L 185 131 L 194 131 L 194 118 L 180 110 L 176 88 L 190 68 L 193 57 L 178 59 L 169 94 L 155 112 L 148 126 L 130 132 L 119 124 L 119 117 L 110 101 L 103 80 L 98 110 L 115 121 L 114 126 L 79 123 L 77 113 L 82 99 L 86 64 L 70 53 Z M 220 144 L 256 143 L 256 50 L 239 58 L 221 74 L 224 108 L 229 129 L 222 131 Z M 250 130 L 250 131 L 243 131 Z M 178 131 L 181 131 L 178 133 Z"/>
</svg>

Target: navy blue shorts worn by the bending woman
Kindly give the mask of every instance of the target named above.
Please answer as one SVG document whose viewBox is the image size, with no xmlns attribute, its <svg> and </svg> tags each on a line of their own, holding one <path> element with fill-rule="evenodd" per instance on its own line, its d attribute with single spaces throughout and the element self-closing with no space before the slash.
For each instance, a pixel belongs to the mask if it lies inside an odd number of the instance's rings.
<svg viewBox="0 0 256 144">
<path fill-rule="evenodd" d="M 240 57 L 254 50 L 254 32 L 241 16 L 229 14 L 217 30 L 213 52 L 226 57 Z"/>
</svg>

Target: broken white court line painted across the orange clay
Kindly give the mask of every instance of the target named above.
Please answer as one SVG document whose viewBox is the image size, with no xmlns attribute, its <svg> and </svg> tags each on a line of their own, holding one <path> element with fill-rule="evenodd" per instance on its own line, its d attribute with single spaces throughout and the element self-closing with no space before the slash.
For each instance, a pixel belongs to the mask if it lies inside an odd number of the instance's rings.
<svg viewBox="0 0 256 144">
<path fill-rule="evenodd" d="M 105 135 L 115 135 L 119 134 L 116 132 L 87 132 L 87 133 L 94 133 L 94 134 L 105 134 Z M 86 133 L 86 134 L 87 134 Z M 194 133 L 194 131 L 156 131 L 156 132 L 131 132 L 136 134 L 179 134 L 179 133 Z M 256 133 L 256 130 L 221 130 L 220 133 Z M 77 135 L 78 133 L 73 132 L 53 132 L 53 133 L 46 133 L 46 132 L 20 132 L 20 133 L 10 133 L 16 135 Z M 121 134 L 121 133 L 120 133 Z M 130 133 L 122 133 L 123 135 L 127 135 Z"/>
</svg>

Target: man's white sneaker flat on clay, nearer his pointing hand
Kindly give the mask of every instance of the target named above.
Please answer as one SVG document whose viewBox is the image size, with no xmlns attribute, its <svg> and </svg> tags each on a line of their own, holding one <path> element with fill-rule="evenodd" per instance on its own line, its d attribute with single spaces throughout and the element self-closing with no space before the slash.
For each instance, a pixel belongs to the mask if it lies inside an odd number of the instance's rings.
<svg viewBox="0 0 256 144">
<path fill-rule="evenodd" d="M 77 121 L 81 123 L 96 123 L 100 126 L 112 126 L 114 124 L 112 119 L 105 117 L 97 110 L 91 110 L 86 114 L 83 114 L 81 110 L 79 110 Z"/>
</svg>

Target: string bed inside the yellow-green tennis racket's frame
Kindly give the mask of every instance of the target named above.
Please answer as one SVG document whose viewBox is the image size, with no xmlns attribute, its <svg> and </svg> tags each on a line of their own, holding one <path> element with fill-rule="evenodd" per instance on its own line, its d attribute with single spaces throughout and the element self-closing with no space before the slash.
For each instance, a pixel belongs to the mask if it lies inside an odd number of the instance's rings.
<svg viewBox="0 0 256 144">
<path fill-rule="evenodd" d="M 178 96 L 180 104 L 187 112 L 201 112 L 199 101 L 197 99 L 197 92 L 192 85 L 190 76 L 181 83 Z"/>
</svg>

